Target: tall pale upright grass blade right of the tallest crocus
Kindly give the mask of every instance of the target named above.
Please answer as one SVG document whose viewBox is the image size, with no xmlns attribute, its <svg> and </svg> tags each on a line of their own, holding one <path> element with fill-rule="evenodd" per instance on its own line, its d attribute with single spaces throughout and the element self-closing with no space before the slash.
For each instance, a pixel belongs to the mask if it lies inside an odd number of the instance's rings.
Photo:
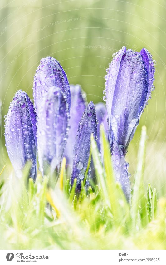
<svg viewBox="0 0 166 265">
<path fill-rule="evenodd" d="M 132 229 L 135 231 L 138 227 L 138 211 L 139 207 L 143 211 L 142 218 L 144 223 L 148 223 L 147 205 L 145 202 L 144 195 L 144 185 L 143 185 L 143 175 L 144 175 L 144 161 L 145 161 L 145 149 L 146 149 L 146 127 L 143 126 L 141 130 L 141 138 L 139 142 L 139 152 L 138 152 L 138 165 L 135 174 L 135 183 L 133 188 L 132 196 L 132 206 L 131 206 L 131 216 L 132 216 Z"/>
</svg>

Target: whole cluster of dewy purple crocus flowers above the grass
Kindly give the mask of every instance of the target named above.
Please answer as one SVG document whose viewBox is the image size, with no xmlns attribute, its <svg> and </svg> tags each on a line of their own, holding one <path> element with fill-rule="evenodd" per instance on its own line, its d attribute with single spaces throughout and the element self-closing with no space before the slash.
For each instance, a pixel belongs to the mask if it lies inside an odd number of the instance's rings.
<svg viewBox="0 0 166 265">
<path fill-rule="evenodd" d="M 33 99 L 16 92 L 5 117 L 5 140 L 9 158 L 18 177 L 27 161 L 34 180 L 37 153 L 42 175 L 59 170 L 63 156 L 71 167 L 71 185 L 77 179 L 77 191 L 85 173 L 90 175 L 90 136 L 99 150 L 100 124 L 110 140 L 113 168 L 127 200 L 130 181 L 125 154 L 140 116 L 154 89 L 154 60 L 146 49 L 126 50 L 114 58 L 105 76 L 103 103 L 86 102 L 79 85 L 69 86 L 60 63 L 52 57 L 41 59 L 33 84 Z M 88 168 L 89 167 L 89 168 Z"/>
</svg>

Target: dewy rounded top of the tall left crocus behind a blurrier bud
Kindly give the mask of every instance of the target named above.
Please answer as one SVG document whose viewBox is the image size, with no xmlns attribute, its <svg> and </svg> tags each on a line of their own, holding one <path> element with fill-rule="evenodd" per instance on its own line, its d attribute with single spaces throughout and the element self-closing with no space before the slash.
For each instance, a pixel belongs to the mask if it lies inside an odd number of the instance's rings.
<svg viewBox="0 0 166 265">
<path fill-rule="evenodd" d="M 70 87 L 65 71 L 55 58 L 42 58 L 40 65 L 37 67 L 33 82 L 33 98 L 37 114 L 42 106 L 43 97 L 52 86 L 61 88 L 61 91 L 66 96 L 70 110 Z"/>
</svg>

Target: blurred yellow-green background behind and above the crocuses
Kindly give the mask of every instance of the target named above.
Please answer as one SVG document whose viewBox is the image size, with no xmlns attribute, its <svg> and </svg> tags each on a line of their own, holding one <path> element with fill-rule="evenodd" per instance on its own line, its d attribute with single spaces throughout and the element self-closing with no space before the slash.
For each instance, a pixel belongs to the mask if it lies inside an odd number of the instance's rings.
<svg viewBox="0 0 166 265">
<path fill-rule="evenodd" d="M 157 61 L 155 90 L 144 110 L 127 161 L 133 175 L 142 125 L 148 142 L 145 183 L 165 194 L 166 2 L 164 0 L 1 0 L 0 98 L 2 100 L 0 166 L 8 164 L 4 118 L 18 89 L 32 97 L 33 76 L 40 59 L 61 62 L 69 82 L 81 84 L 88 101 L 102 101 L 112 53 L 122 46 L 146 47 Z M 92 46 L 92 47 L 90 47 Z M 9 170 L 8 170 L 9 171 Z"/>
</svg>

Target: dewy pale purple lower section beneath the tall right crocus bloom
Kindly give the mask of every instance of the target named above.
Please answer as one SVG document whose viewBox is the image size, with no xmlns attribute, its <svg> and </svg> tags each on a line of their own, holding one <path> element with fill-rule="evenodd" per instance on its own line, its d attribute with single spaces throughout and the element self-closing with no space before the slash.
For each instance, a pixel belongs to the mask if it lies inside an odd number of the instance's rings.
<svg viewBox="0 0 166 265">
<path fill-rule="evenodd" d="M 116 180 L 120 182 L 127 201 L 130 201 L 130 181 L 128 167 L 129 164 L 125 161 L 125 156 L 115 139 L 112 141 L 111 146 L 112 164 L 116 176 Z"/>
</svg>

